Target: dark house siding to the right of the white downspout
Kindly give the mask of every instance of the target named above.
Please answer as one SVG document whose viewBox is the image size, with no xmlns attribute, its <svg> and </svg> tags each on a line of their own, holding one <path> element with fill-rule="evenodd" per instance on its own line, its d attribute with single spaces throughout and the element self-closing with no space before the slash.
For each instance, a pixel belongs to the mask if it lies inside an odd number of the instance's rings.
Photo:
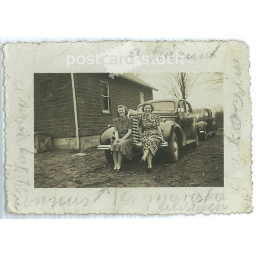
<svg viewBox="0 0 256 256">
<path fill-rule="evenodd" d="M 102 113 L 100 80 L 109 83 L 111 113 Z M 116 108 L 122 104 L 127 109 L 137 109 L 140 92 L 145 101 L 153 98 L 152 89 L 123 77 L 109 77 L 109 73 L 77 73 L 78 122 L 80 135 L 101 134 L 102 130 L 117 117 Z"/>
</svg>

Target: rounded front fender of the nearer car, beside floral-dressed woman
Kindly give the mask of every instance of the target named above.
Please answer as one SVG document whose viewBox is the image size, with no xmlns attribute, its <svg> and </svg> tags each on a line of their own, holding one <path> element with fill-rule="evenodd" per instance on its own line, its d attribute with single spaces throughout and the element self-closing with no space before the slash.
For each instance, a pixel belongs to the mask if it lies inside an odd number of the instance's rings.
<svg viewBox="0 0 256 256">
<path fill-rule="evenodd" d="M 165 141 L 170 141 L 172 134 L 176 133 L 178 140 L 181 141 L 182 146 L 186 145 L 186 136 L 182 128 L 179 126 L 178 123 L 175 123 L 174 121 L 165 121 L 160 123 L 160 128 L 163 134 L 163 137 Z"/>
</svg>

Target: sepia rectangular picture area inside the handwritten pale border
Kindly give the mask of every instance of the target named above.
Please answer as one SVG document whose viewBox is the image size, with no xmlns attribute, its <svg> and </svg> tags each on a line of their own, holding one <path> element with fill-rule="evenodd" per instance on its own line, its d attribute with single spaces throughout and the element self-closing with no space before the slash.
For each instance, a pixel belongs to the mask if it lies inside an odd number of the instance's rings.
<svg viewBox="0 0 256 256">
<path fill-rule="evenodd" d="M 223 73 L 34 74 L 35 188 L 223 187 Z"/>
</svg>

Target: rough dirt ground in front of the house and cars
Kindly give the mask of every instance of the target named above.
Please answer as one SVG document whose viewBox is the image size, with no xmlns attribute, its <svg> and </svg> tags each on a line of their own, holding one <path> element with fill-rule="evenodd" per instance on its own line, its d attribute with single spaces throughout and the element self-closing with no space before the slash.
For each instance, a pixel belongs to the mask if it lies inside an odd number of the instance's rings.
<svg viewBox="0 0 256 256">
<path fill-rule="evenodd" d="M 153 159 L 153 172 L 147 165 L 123 161 L 123 171 L 115 173 L 104 151 L 91 148 L 88 156 L 75 151 L 52 150 L 35 154 L 35 188 L 80 187 L 221 187 L 224 186 L 223 131 L 200 141 L 199 147 L 184 147 L 179 161 L 168 164 L 163 151 Z"/>
</svg>

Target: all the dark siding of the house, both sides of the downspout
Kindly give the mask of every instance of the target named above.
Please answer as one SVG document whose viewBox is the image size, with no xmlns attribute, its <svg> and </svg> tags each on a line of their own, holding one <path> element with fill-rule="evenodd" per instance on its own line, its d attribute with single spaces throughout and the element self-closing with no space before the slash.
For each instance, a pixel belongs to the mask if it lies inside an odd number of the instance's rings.
<svg viewBox="0 0 256 256">
<path fill-rule="evenodd" d="M 53 79 L 55 97 L 40 98 L 40 81 Z M 109 82 L 111 113 L 102 113 L 100 80 Z M 136 109 L 140 92 L 145 101 L 153 98 L 152 89 L 123 77 L 109 77 L 109 73 L 75 74 L 77 112 L 80 136 L 101 134 L 120 104 Z M 74 105 L 71 74 L 34 74 L 35 131 L 45 131 L 54 137 L 75 137 Z"/>
</svg>

